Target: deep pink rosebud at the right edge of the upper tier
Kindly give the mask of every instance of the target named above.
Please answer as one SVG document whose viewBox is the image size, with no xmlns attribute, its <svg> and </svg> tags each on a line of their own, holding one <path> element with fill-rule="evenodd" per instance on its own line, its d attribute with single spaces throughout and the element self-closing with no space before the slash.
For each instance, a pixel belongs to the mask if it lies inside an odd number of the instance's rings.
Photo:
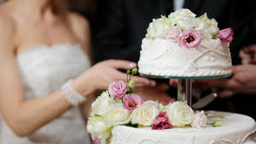
<svg viewBox="0 0 256 144">
<path fill-rule="evenodd" d="M 217 32 L 217 37 L 224 42 L 231 43 L 234 38 L 234 32 L 232 28 L 226 28 Z"/>
</svg>

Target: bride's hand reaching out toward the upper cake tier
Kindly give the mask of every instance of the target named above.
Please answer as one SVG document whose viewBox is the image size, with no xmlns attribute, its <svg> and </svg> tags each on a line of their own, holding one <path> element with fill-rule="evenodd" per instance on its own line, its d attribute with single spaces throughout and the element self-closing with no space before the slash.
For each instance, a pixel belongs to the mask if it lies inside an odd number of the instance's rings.
<svg viewBox="0 0 256 144">
<path fill-rule="evenodd" d="M 90 67 L 79 78 L 76 78 L 73 84 L 75 89 L 82 93 L 82 89 L 108 89 L 108 85 L 112 82 L 126 81 L 126 73 L 120 72 L 119 69 L 127 70 L 136 66 L 136 63 L 127 60 L 105 60 Z M 137 87 L 155 85 L 155 82 L 148 78 L 133 76 L 132 79 L 135 80 Z"/>
</svg>

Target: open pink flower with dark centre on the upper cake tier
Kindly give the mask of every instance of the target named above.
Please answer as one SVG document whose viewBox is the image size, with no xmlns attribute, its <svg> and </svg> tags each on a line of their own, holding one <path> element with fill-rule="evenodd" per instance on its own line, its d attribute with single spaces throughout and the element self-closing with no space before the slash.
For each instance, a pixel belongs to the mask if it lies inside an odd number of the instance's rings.
<svg viewBox="0 0 256 144">
<path fill-rule="evenodd" d="M 193 28 L 183 31 L 178 37 L 178 45 L 187 49 L 195 48 L 201 43 L 201 32 Z"/>
</svg>

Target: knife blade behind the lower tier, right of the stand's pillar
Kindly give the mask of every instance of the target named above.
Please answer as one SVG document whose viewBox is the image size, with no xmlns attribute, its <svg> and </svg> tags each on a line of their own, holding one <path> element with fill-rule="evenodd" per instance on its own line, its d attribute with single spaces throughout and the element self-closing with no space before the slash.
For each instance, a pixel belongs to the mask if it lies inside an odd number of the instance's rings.
<svg viewBox="0 0 256 144">
<path fill-rule="evenodd" d="M 194 109 L 200 109 L 202 107 L 206 107 L 209 103 L 211 103 L 216 97 L 218 97 L 217 93 L 212 92 L 211 94 L 206 95 L 205 97 L 201 98 L 199 101 L 195 102 L 192 105 Z"/>
</svg>

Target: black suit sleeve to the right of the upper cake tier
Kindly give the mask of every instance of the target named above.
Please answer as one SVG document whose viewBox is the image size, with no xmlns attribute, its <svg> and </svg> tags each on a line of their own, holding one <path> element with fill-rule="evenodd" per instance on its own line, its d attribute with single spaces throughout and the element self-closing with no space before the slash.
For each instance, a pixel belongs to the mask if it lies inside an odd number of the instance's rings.
<svg viewBox="0 0 256 144">
<path fill-rule="evenodd" d="M 253 10 L 254 2 L 231 1 L 228 25 L 234 30 L 234 40 L 230 43 L 230 52 L 234 65 L 240 64 L 239 51 L 250 44 L 256 42 L 253 30 Z"/>
</svg>

